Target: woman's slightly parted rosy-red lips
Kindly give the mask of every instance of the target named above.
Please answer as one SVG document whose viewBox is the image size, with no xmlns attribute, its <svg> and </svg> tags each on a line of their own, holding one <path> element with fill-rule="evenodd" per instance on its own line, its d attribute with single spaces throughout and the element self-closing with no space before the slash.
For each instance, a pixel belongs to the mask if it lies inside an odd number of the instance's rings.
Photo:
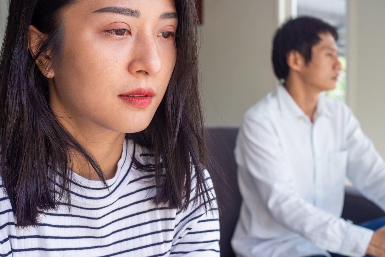
<svg viewBox="0 0 385 257">
<path fill-rule="evenodd" d="M 151 88 L 137 88 L 130 92 L 119 95 L 119 97 L 135 108 L 147 108 L 151 105 L 152 97 L 155 96 Z"/>
</svg>

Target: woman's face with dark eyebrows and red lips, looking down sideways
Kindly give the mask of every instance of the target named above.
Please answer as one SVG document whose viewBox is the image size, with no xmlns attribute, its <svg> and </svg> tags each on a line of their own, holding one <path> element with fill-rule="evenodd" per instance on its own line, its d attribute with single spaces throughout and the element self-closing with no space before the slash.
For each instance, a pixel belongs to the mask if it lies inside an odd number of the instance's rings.
<svg viewBox="0 0 385 257">
<path fill-rule="evenodd" d="M 176 60 L 174 0 L 81 0 L 65 8 L 50 107 L 77 130 L 145 129 Z"/>
</svg>

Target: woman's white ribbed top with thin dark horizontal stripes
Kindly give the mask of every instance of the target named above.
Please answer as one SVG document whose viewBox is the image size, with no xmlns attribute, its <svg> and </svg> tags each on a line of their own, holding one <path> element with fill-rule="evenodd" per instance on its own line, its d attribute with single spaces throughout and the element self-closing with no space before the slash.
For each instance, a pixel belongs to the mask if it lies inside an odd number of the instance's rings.
<svg viewBox="0 0 385 257">
<path fill-rule="evenodd" d="M 0 256 L 219 256 L 218 210 L 192 202 L 178 211 L 151 202 L 151 174 L 132 160 L 148 159 L 126 140 L 114 178 L 100 181 L 73 174 L 71 205 L 45 211 L 35 227 L 17 227 L 10 200 L 0 187 Z M 213 206 L 215 194 L 207 175 Z"/>
</svg>

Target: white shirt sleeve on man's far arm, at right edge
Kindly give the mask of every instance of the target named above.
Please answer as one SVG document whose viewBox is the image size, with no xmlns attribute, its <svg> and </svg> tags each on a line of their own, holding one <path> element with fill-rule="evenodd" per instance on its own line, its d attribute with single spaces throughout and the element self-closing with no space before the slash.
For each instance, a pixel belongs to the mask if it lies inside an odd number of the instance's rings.
<svg viewBox="0 0 385 257">
<path fill-rule="evenodd" d="M 350 109 L 347 113 L 347 176 L 361 194 L 385 211 L 385 163 Z"/>
</svg>

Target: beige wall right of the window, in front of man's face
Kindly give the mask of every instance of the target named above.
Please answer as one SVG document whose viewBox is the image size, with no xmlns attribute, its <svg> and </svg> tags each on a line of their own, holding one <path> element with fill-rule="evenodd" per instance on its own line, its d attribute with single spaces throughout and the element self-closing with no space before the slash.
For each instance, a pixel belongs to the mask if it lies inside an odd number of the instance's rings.
<svg viewBox="0 0 385 257">
<path fill-rule="evenodd" d="M 348 1 L 348 104 L 385 157 L 385 1 Z"/>
</svg>

